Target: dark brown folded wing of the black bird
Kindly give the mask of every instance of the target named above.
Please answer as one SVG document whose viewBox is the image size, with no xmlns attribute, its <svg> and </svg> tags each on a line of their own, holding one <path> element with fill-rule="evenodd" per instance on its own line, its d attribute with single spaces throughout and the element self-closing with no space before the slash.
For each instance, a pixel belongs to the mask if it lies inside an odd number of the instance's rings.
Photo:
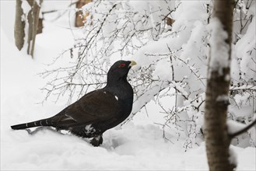
<svg viewBox="0 0 256 171">
<path fill-rule="evenodd" d="M 87 93 L 66 107 L 55 116 L 55 120 L 62 126 L 93 124 L 113 119 L 119 110 L 121 109 L 118 105 L 118 98 L 111 92 L 99 89 Z"/>
</svg>

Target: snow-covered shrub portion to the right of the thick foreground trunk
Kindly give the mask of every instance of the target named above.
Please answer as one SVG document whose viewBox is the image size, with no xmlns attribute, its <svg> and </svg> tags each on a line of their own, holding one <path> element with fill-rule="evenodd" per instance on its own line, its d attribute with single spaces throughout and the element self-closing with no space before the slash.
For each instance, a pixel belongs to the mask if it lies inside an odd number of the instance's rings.
<svg viewBox="0 0 256 171">
<path fill-rule="evenodd" d="M 231 64 L 230 119 L 248 124 L 256 113 L 255 2 L 237 1 L 234 9 Z M 233 145 L 256 146 L 255 128 L 233 140 Z"/>
</svg>

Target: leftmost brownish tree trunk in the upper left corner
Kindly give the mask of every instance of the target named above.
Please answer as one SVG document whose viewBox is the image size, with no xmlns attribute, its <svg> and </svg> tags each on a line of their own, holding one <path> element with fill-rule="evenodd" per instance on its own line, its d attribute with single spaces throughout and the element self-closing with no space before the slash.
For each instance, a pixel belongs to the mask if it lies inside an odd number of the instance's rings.
<svg viewBox="0 0 256 171">
<path fill-rule="evenodd" d="M 16 0 L 16 16 L 14 25 L 14 38 L 16 47 L 19 51 L 23 48 L 25 38 L 25 21 L 23 19 L 22 1 Z"/>
</svg>

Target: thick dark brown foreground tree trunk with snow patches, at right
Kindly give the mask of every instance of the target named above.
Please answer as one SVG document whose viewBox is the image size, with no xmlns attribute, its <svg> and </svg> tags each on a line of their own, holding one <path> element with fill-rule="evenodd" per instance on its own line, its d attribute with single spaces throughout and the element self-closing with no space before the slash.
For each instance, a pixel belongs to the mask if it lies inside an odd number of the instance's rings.
<svg viewBox="0 0 256 171">
<path fill-rule="evenodd" d="M 226 126 L 226 113 L 229 101 L 227 96 L 230 87 L 230 56 L 231 56 L 231 40 L 233 26 L 233 0 L 216 0 L 214 1 L 212 19 L 219 19 L 223 30 L 227 33 L 227 38 L 223 41 L 226 47 L 229 47 L 226 55 L 221 58 L 227 59 L 228 65 L 223 67 L 212 66 L 211 61 L 216 60 L 216 54 L 219 53 L 213 46 L 218 46 L 218 42 L 211 44 L 209 78 L 206 87 L 205 100 L 205 143 L 206 153 L 209 163 L 209 170 L 225 170 L 234 169 L 234 164 L 230 162 L 230 137 Z M 214 51 L 215 50 L 215 51 Z M 219 51 L 222 51 L 219 49 Z M 220 61 L 221 62 L 221 61 Z"/>
</svg>

